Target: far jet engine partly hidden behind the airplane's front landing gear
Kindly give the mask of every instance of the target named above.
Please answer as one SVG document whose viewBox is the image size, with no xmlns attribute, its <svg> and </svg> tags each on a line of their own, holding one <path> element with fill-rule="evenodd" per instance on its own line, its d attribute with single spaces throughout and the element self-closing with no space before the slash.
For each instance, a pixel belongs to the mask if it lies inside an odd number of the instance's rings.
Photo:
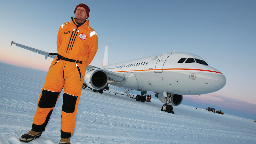
<svg viewBox="0 0 256 144">
<path fill-rule="evenodd" d="M 183 96 L 179 95 L 179 94 L 167 93 L 166 96 L 164 96 L 164 93 L 156 93 L 155 96 L 163 103 L 172 103 L 173 106 L 180 105 L 183 100 Z M 169 98 L 169 101 L 168 101 L 167 97 Z"/>
</svg>

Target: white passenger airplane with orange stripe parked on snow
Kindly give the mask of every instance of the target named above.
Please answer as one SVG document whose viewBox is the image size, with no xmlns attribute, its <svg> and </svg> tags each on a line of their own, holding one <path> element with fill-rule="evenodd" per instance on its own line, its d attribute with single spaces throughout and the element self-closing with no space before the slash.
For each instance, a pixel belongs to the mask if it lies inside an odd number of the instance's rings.
<svg viewBox="0 0 256 144">
<path fill-rule="evenodd" d="M 11 42 L 17 46 L 55 58 L 35 48 Z M 182 102 L 182 95 L 206 94 L 220 90 L 226 84 L 226 77 L 217 69 L 208 66 L 203 58 L 184 52 L 172 52 L 153 55 L 136 60 L 108 64 L 106 46 L 101 68 L 89 65 L 85 83 L 95 90 L 101 90 L 108 84 L 141 91 L 137 101 L 145 101 L 142 95 L 155 92 L 164 103 L 163 111 L 173 113 L 172 105 Z M 172 104 L 172 105 L 171 105 Z"/>
</svg>

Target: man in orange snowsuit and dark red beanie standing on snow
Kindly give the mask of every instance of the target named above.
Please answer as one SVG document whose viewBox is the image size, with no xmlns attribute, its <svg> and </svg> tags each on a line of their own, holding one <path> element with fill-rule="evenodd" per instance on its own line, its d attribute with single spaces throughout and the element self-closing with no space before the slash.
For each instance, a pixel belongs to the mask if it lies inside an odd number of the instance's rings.
<svg viewBox="0 0 256 144">
<path fill-rule="evenodd" d="M 89 27 L 90 9 L 85 4 L 75 8 L 75 17 L 60 26 L 57 37 L 58 55 L 45 78 L 44 86 L 37 101 L 32 129 L 20 137 L 29 142 L 41 136 L 50 119 L 52 110 L 63 87 L 60 143 L 70 143 L 76 123 L 76 111 L 80 99 L 86 67 L 93 60 L 98 49 L 96 32 Z"/>
</svg>

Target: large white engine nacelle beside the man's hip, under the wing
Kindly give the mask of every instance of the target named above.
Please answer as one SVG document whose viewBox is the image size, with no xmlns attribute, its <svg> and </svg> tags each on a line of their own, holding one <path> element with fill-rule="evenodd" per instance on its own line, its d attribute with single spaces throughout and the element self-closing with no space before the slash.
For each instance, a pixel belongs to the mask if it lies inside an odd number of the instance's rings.
<svg viewBox="0 0 256 144">
<path fill-rule="evenodd" d="M 108 84 L 107 74 L 100 69 L 90 69 L 84 79 L 87 86 L 95 90 L 103 89 Z"/>
</svg>

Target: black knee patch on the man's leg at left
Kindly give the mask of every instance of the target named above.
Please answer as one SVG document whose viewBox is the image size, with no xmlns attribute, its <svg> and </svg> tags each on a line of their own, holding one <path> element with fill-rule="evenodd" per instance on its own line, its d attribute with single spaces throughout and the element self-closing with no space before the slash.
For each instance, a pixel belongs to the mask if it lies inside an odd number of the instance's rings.
<svg viewBox="0 0 256 144">
<path fill-rule="evenodd" d="M 42 96 L 39 100 L 39 108 L 54 108 L 57 102 L 60 92 L 51 92 L 44 90 L 42 91 Z"/>
</svg>

